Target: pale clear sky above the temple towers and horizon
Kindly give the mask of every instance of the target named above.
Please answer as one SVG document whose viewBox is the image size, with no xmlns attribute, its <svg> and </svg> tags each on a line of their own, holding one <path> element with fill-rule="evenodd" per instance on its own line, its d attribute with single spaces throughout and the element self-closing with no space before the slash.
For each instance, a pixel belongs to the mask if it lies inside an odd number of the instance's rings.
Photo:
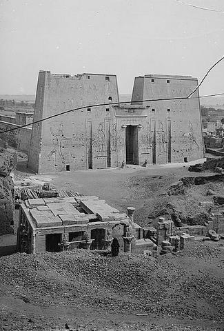
<svg viewBox="0 0 224 331">
<path fill-rule="evenodd" d="M 130 94 L 139 75 L 202 79 L 224 56 L 224 1 L 0 0 L 0 41 L 0 94 L 35 94 L 39 70 L 116 74 Z M 224 60 L 200 94 L 223 77 Z"/>
</svg>

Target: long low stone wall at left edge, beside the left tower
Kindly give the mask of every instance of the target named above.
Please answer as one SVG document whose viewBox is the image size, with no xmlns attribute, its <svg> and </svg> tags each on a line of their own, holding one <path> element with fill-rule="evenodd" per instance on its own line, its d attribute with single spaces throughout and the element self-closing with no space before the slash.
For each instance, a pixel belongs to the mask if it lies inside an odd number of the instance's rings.
<svg viewBox="0 0 224 331">
<path fill-rule="evenodd" d="M 18 130 L 1 133 L 1 131 L 10 130 L 12 128 L 18 128 Z M 0 121 L 1 139 L 6 141 L 10 146 L 23 150 L 24 152 L 29 151 L 31 132 L 31 128 L 20 128 L 17 124 Z"/>
</svg>

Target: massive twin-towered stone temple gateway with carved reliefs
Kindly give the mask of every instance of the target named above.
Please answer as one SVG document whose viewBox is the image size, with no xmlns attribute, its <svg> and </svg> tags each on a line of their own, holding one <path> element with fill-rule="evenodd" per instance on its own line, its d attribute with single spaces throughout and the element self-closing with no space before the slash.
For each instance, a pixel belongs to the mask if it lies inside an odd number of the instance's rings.
<svg viewBox="0 0 224 331">
<path fill-rule="evenodd" d="M 83 109 L 33 125 L 28 166 L 46 173 L 203 158 L 198 90 L 189 99 L 142 101 L 185 98 L 196 86 L 190 76 L 136 77 L 132 103 L 114 106 L 115 75 L 41 71 L 34 121 Z"/>
</svg>

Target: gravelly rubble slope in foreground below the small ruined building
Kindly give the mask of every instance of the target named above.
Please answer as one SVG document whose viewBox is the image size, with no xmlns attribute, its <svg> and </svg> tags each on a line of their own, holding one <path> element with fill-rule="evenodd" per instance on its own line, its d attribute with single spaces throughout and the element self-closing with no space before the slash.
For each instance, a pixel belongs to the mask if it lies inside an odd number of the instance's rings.
<svg viewBox="0 0 224 331">
<path fill-rule="evenodd" d="M 224 250 L 212 245 L 195 243 L 189 251 L 157 259 L 124 253 L 103 257 L 86 250 L 14 254 L 1 258 L 0 295 L 37 306 L 221 323 Z"/>
</svg>

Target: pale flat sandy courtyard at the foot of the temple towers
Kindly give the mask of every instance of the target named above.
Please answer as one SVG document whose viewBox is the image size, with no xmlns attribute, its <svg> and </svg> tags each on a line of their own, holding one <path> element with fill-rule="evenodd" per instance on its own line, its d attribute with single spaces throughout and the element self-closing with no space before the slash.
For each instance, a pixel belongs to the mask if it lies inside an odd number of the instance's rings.
<svg viewBox="0 0 224 331">
<path fill-rule="evenodd" d="M 170 163 L 166 165 L 149 165 L 143 168 L 139 165 L 127 165 L 125 168 L 111 168 L 102 170 L 80 170 L 74 172 L 59 172 L 58 174 L 35 175 L 28 172 L 26 161 L 19 163 L 18 170 L 14 173 L 15 185 L 20 185 L 21 181 L 30 181 L 31 185 L 41 185 L 49 182 L 53 187 L 63 190 L 74 190 L 84 195 L 96 195 L 104 199 L 114 208 L 124 211 L 128 206 L 139 208 L 144 203 L 141 191 L 144 191 L 144 185 L 139 186 L 136 194 L 133 185 L 129 185 L 133 178 L 168 179 L 163 185 L 166 189 L 170 183 L 179 180 L 184 176 L 195 176 L 196 174 L 188 172 L 190 164 L 200 163 L 205 159 L 189 163 Z M 145 197 L 148 199 L 149 197 Z"/>
</svg>

